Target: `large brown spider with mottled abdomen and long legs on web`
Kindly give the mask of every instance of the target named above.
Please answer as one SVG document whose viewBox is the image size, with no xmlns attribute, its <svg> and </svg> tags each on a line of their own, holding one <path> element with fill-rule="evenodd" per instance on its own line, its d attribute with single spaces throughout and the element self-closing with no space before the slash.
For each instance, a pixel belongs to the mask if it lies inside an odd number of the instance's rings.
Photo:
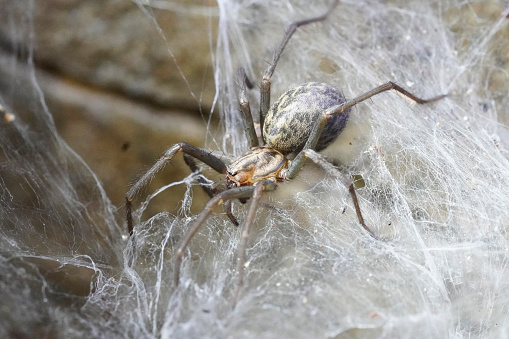
<svg viewBox="0 0 509 339">
<path fill-rule="evenodd" d="M 294 178 L 304 165 L 306 159 L 312 160 L 326 172 L 340 177 L 348 187 L 355 211 L 361 226 L 374 238 L 376 236 L 366 226 L 359 207 L 355 188 L 351 180 L 346 179 L 339 170 L 317 153 L 329 146 L 346 126 L 350 108 L 358 103 L 388 90 L 395 90 L 418 104 L 440 100 L 446 95 L 431 99 L 420 99 L 393 82 L 387 82 L 354 99 L 345 100 L 343 94 L 335 88 L 319 82 L 309 82 L 288 90 L 270 106 L 270 79 L 288 41 L 300 26 L 325 20 L 338 1 L 332 2 L 327 11 L 314 18 L 291 23 L 269 63 L 260 85 L 260 130 L 258 138 L 251 109 L 246 95 L 246 87 L 252 88 L 245 71 L 239 70 L 240 112 L 244 120 L 244 129 L 250 144 L 250 150 L 229 165 L 204 148 L 185 142 L 177 143 L 166 150 L 164 155 L 131 187 L 126 194 L 126 219 L 130 236 L 133 235 L 132 200 L 136 193 L 145 186 L 173 157 L 183 152 L 184 160 L 190 169 L 198 170 L 197 159 L 220 174 L 225 175 L 213 186 L 200 185 L 210 196 L 203 211 L 181 241 L 175 256 L 174 283 L 178 286 L 180 267 L 184 251 L 193 236 L 204 224 L 207 217 L 217 205 L 223 204 L 226 215 L 231 222 L 238 225 L 231 212 L 231 201 L 238 199 L 242 203 L 251 199 L 244 221 L 241 244 L 238 253 L 238 281 L 234 294 L 233 306 L 237 301 L 243 285 L 245 252 L 255 212 L 260 204 L 263 191 L 274 190 L 278 182 Z M 293 159 L 293 160 L 291 160 Z"/>
</svg>

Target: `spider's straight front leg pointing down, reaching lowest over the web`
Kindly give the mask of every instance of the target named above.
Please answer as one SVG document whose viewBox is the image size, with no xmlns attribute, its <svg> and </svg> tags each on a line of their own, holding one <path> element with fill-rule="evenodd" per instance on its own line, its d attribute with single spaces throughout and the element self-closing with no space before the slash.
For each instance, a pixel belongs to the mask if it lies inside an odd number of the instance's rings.
<svg viewBox="0 0 509 339">
<path fill-rule="evenodd" d="M 244 284 L 244 268 L 246 263 L 246 247 L 247 247 L 247 241 L 249 239 L 249 234 L 251 232 L 251 226 L 253 225 L 255 213 L 257 210 L 257 207 L 260 202 L 260 197 L 262 194 L 262 191 L 269 190 L 272 191 L 276 188 L 276 184 L 272 180 L 264 180 L 259 181 L 254 185 L 254 191 L 253 196 L 251 198 L 251 204 L 249 205 L 249 211 L 247 212 L 246 220 L 244 222 L 244 230 L 242 231 L 242 240 L 240 243 L 239 248 L 239 266 L 238 266 L 238 272 L 239 277 L 237 281 L 237 287 L 235 289 L 235 295 L 233 297 L 232 307 L 235 307 L 237 304 L 237 299 L 239 297 L 240 289 L 242 288 L 242 285 Z"/>
</svg>

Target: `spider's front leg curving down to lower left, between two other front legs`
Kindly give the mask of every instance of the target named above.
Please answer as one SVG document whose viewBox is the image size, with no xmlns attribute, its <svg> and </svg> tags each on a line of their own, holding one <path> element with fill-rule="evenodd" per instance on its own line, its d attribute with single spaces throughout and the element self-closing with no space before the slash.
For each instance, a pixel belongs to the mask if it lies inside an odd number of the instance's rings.
<svg viewBox="0 0 509 339">
<path fill-rule="evenodd" d="M 254 191 L 257 186 L 262 186 L 261 189 L 269 189 L 269 190 L 275 188 L 275 184 L 274 184 L 274 186 L 272 186 L 270 183 L 260 181 L 255 186 L 235 187 L 235 188 L 229 189 L 227 191 L 220 192 L 217 195 L 215 195 L 214 197 L 212 197 L 207 202 L 207 204 L 205 205 L 205 208 L 200 213 L 200 215 L 194 222 L 193 226 L 191 226 L 191 228 L 187 231 L 186 236 L 180 243 L 179 248 L 177 249 L 176 258 L 175 258 L 175 269 L 173 271 L 173 278 L 174 278 L 175 286 L 178 286 L 178 284 L 179 284 L 180 266 L 182 264 L 182 256 L 184 255 L 184 250 L 189 245 L 189 242 L 194 237 L 194 235 L 198 232 L 200 227 L 204 224 L 205 220 L 207 220 L 209 215 L 212 213 L 212 210 L 214 209 L 214 207 L 216 207 L 219 204 L 224 203 L 225 201 L 229 201 L 229 200 L 251 198 L 253 196 Z M 257 199 L 257 201 L 258 201 L 258 199 Z M 252 204 L 253 203 L 251 202 L 251 205 Z M 253 208 L 256 209 L 256 204 Z M 244 228 L 245 227 L 251 228 L 250 224 L 252 224 L 252 222 L 253 222 L 253 217 L 249 218 L 249 215 L 248 215 L 248 217 L 246 218 L 246 221 L 244 222 L 244 225 L 245 225 Z"/>
</svg>

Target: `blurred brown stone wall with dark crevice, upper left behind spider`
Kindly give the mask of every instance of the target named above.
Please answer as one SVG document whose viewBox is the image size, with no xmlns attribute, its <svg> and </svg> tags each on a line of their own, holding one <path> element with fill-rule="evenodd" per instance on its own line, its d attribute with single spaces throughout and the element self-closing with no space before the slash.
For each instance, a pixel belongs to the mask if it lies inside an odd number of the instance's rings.
<svg viewBox="0 0 509 339">
<path fill-rule="evenodd" d="M 35 66 L 58 133 L 118 207 L 129 186 L 167 147 L 179 141 L 204 145 L 207 129 L 219 125 L 217 113 L 211 112 L 216 4 L 167 4 L 151 9 L 167 41 L 132 1 L 29 1 L 5 6 L 0 14 L 3 58 L 33 53 L 34 64 L 18 67 Z M 28 40 L 15 27 L 19 20 L 34 31 Z M 18 68 L 0 71 L 6 91 L 12 88 L 7 79 L 24 73 Z M 14 108 L 23 112 L 31 104 L 16 100 Z M 188 172 L 176 161 L 151 187 Z M 154 201 L 149 208 L 175 212 L 183 193 L 177 187 L 164 204 Z"/>
</svg>

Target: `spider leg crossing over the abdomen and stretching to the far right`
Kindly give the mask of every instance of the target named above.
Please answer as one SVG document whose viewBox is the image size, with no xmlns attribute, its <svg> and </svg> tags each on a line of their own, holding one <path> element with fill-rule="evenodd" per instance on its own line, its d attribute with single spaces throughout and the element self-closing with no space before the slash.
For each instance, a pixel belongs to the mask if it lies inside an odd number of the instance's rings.
<svg viewBox="0 0 509 339">
<path fill-rule="evenodd" d="M 318 142 L 318 139 L 320 138 L 320 135 L 322 134 L 322 131 L 323 131 L 323 128 L 325 127 L 325 124 L 327 123 L 327 120 L 335 115 L 335 114 L 341 114 L 343 113 L 344 111 L 346 111 L 347 109 L 349 109 L 350 107 L 353 107 L 355 105 L 357 105 L 358 103 L 360 102 L 363 102 L 364 100 L 367 100 L 369 98 L 371 98 L 372 96 L 375 96 L 377 94 L 380 94 L 382 92 L 385 92 L 385 91 L 389 91 L 389 90 L 395 90 L 399 93 L 401 93 L 402 95 L 404 95 L 405 97 L 409 98 L 410 100 L 418 103 L 418 104 L 427 104 L 427 103 L 430 103 L 430 102 L 434 102 L 434 101 L 437 101 L 437 100 L 440 100 L 440 99 L 443 99 L 447 96 L 447 94 L 442 94 L 442 95 L 439 95 L 439 96 L 436 96 L 436 97 L 433 97 L 431 99 L 421 99 L 421 98 L 418 98 L 416 97 L 415 95 L 413 95 L 412 93 L 408 92 L 407 90 L 405 90 L 404 88 L 396 85 L 395 83 L 393 83 L 392 81 L 389 81 L 381 86 L 378 86 L 366 93 L 363 93 L 355 98 L 353 98 L 352 100 L 348 100 L 340 105 L 336 105 L 336 106 L 333 106 L 329 109 L 327 109 L 323 116 L 321 117 L 321 119 L 318 119 L 313 127 L 313 130 L 309 136 L 309 139 L 308 141 L 306 142 L 306 145 L 304 145 L 304 148 L 303 149 L 315 149 L 315 146 L 316 146 L 316 143 Z M 295 161 L 294 161 L 295 163 Z M 299 166 L 298 164 L 296 164 L 296 166 Z"/>
</svg>

